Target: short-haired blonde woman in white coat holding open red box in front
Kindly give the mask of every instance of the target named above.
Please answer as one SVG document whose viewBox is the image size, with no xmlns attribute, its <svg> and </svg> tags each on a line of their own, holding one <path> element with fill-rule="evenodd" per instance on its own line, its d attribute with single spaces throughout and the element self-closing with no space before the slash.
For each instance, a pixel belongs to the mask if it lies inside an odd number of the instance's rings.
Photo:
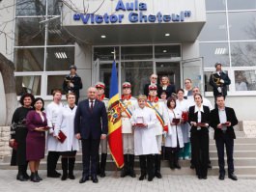
<svg viewBox="0 0 256 192">
<path fill-rule="evenodd" d="M 134 153 L 139 155 L 139 180 L 148 174 L 148 180 L 152 181 L 155 176 L 154 154 L 158 152 L 155 133 L 157 119 L 153 109 L 146 107 L 146 103 L 147 96 L 138 96 L 139 107 L 134 110 L 130 123 L 134 128 Z"/>
</svg>

